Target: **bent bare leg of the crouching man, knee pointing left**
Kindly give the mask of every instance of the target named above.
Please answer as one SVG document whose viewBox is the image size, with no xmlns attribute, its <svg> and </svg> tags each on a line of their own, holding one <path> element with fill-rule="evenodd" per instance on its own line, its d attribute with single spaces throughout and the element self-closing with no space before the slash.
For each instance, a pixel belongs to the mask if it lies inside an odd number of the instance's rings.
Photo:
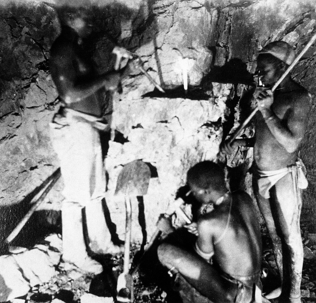
<svg viewBox="0 0 316 303">
<path fill-rule="evenodd" d="M 158 247 L 158 258 L 168 269 L 174 267 L 192 287 L 213 302 L 233 302 L 237 286 L 225 281 L 218 271 L 194 253 L 170 244 Z"/>
</svg>

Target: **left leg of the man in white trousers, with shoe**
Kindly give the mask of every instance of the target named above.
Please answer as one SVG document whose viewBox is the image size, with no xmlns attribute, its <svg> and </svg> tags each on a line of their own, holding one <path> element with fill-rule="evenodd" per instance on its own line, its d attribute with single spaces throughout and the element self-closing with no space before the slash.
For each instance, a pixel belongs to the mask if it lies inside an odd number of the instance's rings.
<svg viewBox="0 0 316 303">
<path fill-rule="evenodd" d="M 89 199 L 87 176 L 82 174 L 81 169 L 81 160 L 84 158 L 82 149 L 86 145 L 82 141 L 85 138 L 80 134 L 82 129 L 76 129 L 76 121 L 63 118 L 60 122 L 63 125 L 51 124 L 51 138 L 60 159 L 64 179 L 63 259 L 85 272 L 99 274 L 102 266 L 88 256 L 83 234 L 82 210 Z"/>
</svg>

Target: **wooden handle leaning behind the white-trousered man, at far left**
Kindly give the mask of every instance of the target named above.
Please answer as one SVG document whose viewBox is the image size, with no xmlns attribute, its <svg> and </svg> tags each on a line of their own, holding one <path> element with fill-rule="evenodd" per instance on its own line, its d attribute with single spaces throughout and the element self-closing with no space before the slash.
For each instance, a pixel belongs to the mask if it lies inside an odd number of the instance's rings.
<svg viewBox="0 0 316 303">
<path fill-rule="evenodd" d="M 27 223 L 28 219 L 31 218 L 33 212 L 39 207 L 39 205 L 44 201 L 47 193 L 52 189 L 52 187 L 55 185 L 57 180 L 60 177 L 60 168 L 58 168 L 52 175 L 52 181 L 47 185 L 43 193 L 40 195 L 40 198 L 37 199 L 37 201 L 32 205 L 30 210 L 27 212 L 27 214 L 22 218 L 20 223 L 15 227 L 14 230 L 9 234 L 9 236 L 6 238 L 7 243 L 11 243 L 13 239 L 19 234 L 23 226 Z"/>
</svg>

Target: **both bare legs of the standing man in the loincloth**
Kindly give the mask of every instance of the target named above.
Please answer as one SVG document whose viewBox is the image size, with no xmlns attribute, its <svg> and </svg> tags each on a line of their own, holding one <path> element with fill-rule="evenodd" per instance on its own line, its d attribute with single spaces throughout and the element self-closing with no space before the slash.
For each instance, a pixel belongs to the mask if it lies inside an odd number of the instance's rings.
<svg viewBox="0 0 316 303">
<path fill-rule="evenodd" d="M 300 231 L 301 203 L 300 199 L 297 199 L 292 176 L 287 174 L 272 187 L 270 199 L 260 196 L 255 180 L 253 188 L 272 240 L 276 264 L 280 271 L 282 302 L 301 302 L 300 285 L 303 265 Z"/>
</svg>

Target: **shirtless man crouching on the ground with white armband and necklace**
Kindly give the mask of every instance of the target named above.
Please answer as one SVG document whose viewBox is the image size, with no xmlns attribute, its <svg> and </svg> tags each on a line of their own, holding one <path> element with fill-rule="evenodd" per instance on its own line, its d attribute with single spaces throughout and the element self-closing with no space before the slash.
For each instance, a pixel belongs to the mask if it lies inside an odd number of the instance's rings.
<svg viewBox="0 0 316 303">
<path fill-rule="evenodd" d="M 158 247 L 160 262 L 208 302 L 252 302 L 262 247 L 250 196 L 227 191 L 223 170 L 211 161 L 191 167 L 187 182 L 202 207 L 212 204 L 214 210 L 198 218 L 193 243 L 184 237 L 186 245 L 179 245 L 177 231 L 171 233 Z"/>
</svg>

